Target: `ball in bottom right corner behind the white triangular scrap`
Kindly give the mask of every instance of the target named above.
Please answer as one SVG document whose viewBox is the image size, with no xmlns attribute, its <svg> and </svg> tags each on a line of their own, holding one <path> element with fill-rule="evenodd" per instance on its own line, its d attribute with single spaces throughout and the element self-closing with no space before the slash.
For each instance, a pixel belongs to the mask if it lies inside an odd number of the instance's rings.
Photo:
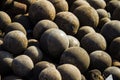
<svg viewBox="0 0 120 80">
<path fill-rule="evenodd" d="M 103 75 L 107 78 L 109 75 L 112 75 L 113 80 L 120 80 L 120 68 L 111 66 L 104 70 Z"/>
</svg>

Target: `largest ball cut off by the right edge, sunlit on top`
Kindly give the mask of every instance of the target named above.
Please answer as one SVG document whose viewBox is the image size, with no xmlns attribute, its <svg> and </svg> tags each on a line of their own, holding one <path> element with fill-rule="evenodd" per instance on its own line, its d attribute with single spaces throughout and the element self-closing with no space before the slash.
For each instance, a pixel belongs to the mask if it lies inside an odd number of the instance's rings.
<svg viewBox="0 0 120 80">
<path fill-rule="evenodd" d="M 110 44 L 113 39 L 120 36 L 120 21 L 112 20 L 103 25 L 101 32 L 107 43 Z"/>
</svg>

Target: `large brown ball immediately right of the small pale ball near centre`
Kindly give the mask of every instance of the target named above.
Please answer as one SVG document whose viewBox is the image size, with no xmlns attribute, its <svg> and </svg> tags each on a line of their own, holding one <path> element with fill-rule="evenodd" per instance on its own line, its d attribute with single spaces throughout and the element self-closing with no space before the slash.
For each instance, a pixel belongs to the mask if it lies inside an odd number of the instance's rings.
<svg viewBox="0 0 120 80">
<path fill-rule="evenodd" d="M 106 50 L 107 44 L 100 33 L 88 33 L 81 39 L 81 47 L 91 53 L 95 50 Z"/>
</svg>

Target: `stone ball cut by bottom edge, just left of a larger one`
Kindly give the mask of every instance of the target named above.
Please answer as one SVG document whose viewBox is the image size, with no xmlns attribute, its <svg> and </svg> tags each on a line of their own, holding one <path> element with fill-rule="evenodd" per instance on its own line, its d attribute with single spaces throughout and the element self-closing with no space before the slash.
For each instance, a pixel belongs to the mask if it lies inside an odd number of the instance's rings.
<svg viewBox="0 0 120 80">
<path fill-rule="evenodd" d="M 62 80 L 60 72 L 56 68 L 48 67 L 39 74 L 39 80 Z"/>
</svg>

